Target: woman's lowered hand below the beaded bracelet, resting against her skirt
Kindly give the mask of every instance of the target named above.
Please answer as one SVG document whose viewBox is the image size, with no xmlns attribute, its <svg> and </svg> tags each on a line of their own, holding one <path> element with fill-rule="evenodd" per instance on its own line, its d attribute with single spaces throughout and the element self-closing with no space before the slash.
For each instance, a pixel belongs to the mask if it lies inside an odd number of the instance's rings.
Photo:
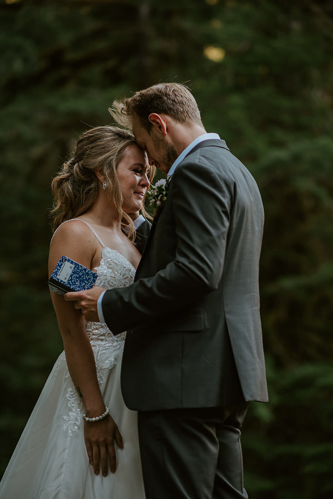
<svg viewBox="0 0 333 499">
<path fill-rule="evenodd" d="M 108 474 L 108 456 L 110 459 L 110 470 L 116 471 L 116 441 L 118 447 L 124 448 L 123 439 L 118 426 L 110 415 L 102 421 L 84 422 L 84 440 L 88 453 L 89 463 L 94 465 L 96 475 L 100 471 L 100 459 L 102 464 L 102 474 L 104 477 Z"/>
</svg>

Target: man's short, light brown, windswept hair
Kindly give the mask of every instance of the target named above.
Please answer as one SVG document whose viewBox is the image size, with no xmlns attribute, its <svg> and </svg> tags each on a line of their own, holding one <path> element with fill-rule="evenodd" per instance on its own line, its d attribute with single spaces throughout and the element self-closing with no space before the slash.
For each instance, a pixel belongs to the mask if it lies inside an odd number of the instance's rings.
<svg viewBox="0 0 333 499">
<path fill-rule="evenodd" d="M 151 131 L 151 113 L 167 114 L 178 123 L 202 125 L 200 111 L 189 89 L 180 83 L 157 83 L 139 90 L 123 101 L 115 100 L 109 109 L 115 121 L 125 128 L 132 128 L 137 115 L 142 126 Z"/>
</svg>

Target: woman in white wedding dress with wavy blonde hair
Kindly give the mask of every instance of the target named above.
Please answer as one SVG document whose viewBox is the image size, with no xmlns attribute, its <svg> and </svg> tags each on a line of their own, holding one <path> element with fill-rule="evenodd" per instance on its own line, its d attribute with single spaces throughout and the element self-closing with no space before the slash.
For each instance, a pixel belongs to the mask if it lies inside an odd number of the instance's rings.
<svg viewBox="0 0 333 499">
<path fill-rule="evenodd" d="M 146 153 L 126 130 L 97 127 L 79 137 L 52 182 L 49 274 L 66 255 L 96 271 L 98 286 L 133 282 L 141 256 L 132 243 L 133 220 L 144 211 L 147 175 Z M 144 499 L 137 413 L 127 409 L 120 389 L 125 333 L 113 336 L 105 324 L 86 323 L 72 303 L 51 297 L 64 351 L 3 475 L 0 498 Z M 98 381 L 86 374 L 92 363 Z M 99 419 L 84 421 L 84 413 Z M 94 433 L 109 440 L 85 441 L 84 425 L 96 425 Z"/>
</svg>

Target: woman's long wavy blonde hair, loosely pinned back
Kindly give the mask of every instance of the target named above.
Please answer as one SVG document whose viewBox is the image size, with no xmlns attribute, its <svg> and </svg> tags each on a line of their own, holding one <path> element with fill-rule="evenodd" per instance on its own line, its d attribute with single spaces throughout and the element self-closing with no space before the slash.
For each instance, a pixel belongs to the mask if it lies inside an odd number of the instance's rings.
<svg viewBox="0 0 333 499">
<path fill-rule="evenodd" d="M 54 196 L 50 212 L 54 232 L 62 222 L 86 213 L 95 202 L 100 181 L 95 173 L 100 169 L 107 181 L 106 194 L 113 201 L 122 226 L 130 226 L 129 239 L 135 240 L 132 219 L 123 211 L 123 195 L 117 175 L 117 167 L 129 146 L 137 145 L 135 137 L 128 130 L 114 126 L 100 126 L 87 130 L 79 136 L 71 158 L 66 161 L 58 175 L 52 180 Z M 150 181 L 155 168 L 150 167 Z M 144 204 L 142 213 L 146 212 Z"/>
</svg>

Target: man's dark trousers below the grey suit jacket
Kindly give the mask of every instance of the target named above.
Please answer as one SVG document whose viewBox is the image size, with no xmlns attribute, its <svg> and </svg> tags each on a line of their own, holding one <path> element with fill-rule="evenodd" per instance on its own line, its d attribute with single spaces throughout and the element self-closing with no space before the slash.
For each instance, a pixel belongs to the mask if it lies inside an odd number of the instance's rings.
<svg viewBox="0 0 333 499">
<path fill-rule="evenodd" d="M 147 499 L 240 499 L 240 445 L 248 403 L 140 411 L 140 454 Z"/>
</svg>

